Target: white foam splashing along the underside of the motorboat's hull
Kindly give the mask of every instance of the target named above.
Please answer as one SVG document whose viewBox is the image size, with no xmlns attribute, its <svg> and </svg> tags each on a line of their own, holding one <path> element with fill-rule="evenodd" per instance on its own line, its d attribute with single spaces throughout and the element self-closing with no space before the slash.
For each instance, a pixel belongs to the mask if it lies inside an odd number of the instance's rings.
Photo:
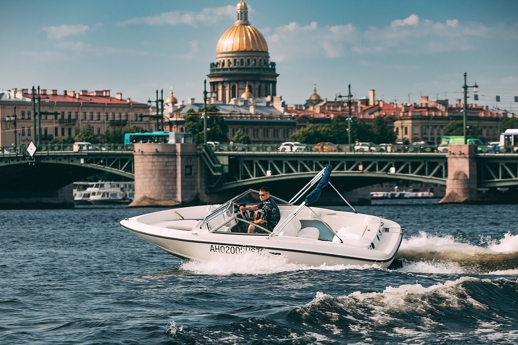
<svg viewBox="0 0 518 345">
<path fill-rule="evenodd" d="M 341 271 L 343 269 L 371 269 L 379 268 L 378 265 L 331 265 L 322 264 L 310 266 L 305 264 L 294 264 L 287 261 L 281 255 L 270 253 L 243 252 L 232 258 L 221 258 L 211 261 L 185 261 L 180 268 L 197 274 L 207 275 L 230 275 L 230 274 L 252 274 L 264 275 L 279 272 L 307 271 L 316 269 L 322 271 Z"/>
</svg>

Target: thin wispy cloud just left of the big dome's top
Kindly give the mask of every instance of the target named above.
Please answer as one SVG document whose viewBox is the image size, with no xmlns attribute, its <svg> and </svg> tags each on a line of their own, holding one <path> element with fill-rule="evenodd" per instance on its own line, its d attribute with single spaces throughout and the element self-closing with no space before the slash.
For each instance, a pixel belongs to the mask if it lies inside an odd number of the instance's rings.
<svg viewBox="0 0 518 345">
<path fill-rule="evenodd" d="M 235 6 L 227 5 L 224 7 L 204 8 L 202 11 L 169 11 L 163 12 L 158 16 L 135 17 L 122 22 L 118 25 L 127 24 L 148 24 L 148 25 L 191 25 L 196 26 L 198 23 L 215 24 L 222 18 L 234 18 L 236 13 Z"/>
</svg>

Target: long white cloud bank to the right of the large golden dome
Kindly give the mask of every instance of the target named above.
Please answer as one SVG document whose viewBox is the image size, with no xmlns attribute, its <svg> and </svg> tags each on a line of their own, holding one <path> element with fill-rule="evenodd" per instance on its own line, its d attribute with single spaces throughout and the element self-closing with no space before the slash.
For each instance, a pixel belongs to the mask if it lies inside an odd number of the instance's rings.
<svg viewBox="0 0 518 345">
<path fill-rule="evenodd" d="M 411 14 L 387 26 L 370 26 L 360 32 L 353 24 L 319 26 L 291 22 L 275 27 L 266 37 L 272 60 L 302 57 L 336 58 L 368 54 L 438 54 L 476 50 L 482 38 L 518 40 L 518 25 L 486 27 L 458 19 L 434 22 Z M 515 44 L 516 42 L 514 42 Z"/>
</svg>

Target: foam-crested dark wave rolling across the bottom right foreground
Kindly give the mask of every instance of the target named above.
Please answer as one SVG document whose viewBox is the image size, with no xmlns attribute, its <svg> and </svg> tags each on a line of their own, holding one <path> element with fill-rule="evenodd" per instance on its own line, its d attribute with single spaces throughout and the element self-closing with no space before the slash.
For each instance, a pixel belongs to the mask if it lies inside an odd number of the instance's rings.
<svg viewBox="0 0 518 345">
<path fill-rule="evenodd" d="M 171 321 L 167 333 L 180 343 L 512 343 L 517 297 L 515 280 L 476 277 L 341 296 L 318 291 L 303 306 L 264 317 L 233 313 L 230 323 L 206 326 Z"/>
</svg>

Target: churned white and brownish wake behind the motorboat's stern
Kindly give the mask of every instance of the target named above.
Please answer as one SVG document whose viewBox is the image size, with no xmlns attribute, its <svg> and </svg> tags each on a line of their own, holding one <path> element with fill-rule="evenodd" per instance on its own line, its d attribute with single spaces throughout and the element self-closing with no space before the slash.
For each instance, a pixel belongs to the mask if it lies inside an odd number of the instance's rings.
<svg viewBox="0 0 518 345">
<path fill-rule="evenodd" d="M 404 239 L 396 258 L 400 271 L 422 273 L 504 274 L 518 268 L 518 234 L 487 239 L 487 247 L 457 242 L 451 236 L 434 236 L 420 231 Z"/>
</svg>

